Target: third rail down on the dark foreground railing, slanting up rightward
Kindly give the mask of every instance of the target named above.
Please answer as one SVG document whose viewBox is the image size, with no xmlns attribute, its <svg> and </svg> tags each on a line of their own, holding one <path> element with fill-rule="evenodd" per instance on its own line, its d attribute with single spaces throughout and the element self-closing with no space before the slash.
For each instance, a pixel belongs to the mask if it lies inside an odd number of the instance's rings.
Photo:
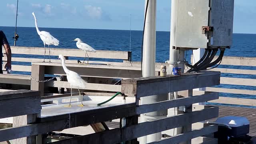
<svg viewBox="0 0 256 144">
<path fill-rule="evenodd" d="M 212 107 L 200 111 L 179 114 L 160 120 L 142 122 L 124 128 L 116 128 L 95 134 L 78 136 L 66 140 L 52 142 L 50 144 L 116 144 L 123 141 L 132 140 L 141 136 L 162 132 L 172 128 L 192 124 L 202 120 L 208 120 L 218 116 L 218 107 Z M 114 137 L 113 137 L 114 136 Z M 111 137 L 111 138 L 110 138 Z"/>
</svg>

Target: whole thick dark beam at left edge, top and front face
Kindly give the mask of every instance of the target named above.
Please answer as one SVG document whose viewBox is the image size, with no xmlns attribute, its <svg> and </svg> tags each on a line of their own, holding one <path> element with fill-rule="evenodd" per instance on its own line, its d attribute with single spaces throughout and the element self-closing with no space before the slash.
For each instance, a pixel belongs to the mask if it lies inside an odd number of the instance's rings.
<svg viewBox="0 0 256 144">
<path fill-rule="evenodd" d="M 38 91 L 0 92 L 0 118 L 36 114 L 41 110 Z"/>
</svg>

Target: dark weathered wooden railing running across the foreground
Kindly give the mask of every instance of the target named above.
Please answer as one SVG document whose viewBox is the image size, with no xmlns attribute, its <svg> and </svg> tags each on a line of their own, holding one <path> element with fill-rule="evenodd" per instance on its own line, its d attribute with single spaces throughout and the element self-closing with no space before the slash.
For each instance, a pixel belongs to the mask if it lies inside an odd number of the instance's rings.
<svg viewBox="0 0 256 144">
<path fill-rule="evenodd" d="M 34 71 L 32 71 L 34 72 Z M 62 110 L 64 105 L 48 105 L 40 108 L 40 93 L 38 91 L 12 91 L 12 93 L 0 92 L 0 118 L 25 115 L 26 124 L 0 130 L 0 142 L 16 138 L 26 137 L 26 143 L 40 144 L 36 142 L 36 136 L 47 132 L 63 130 L 96 124 L 118 118 L 126 118 L 126 126 L 112 130 L 104 130 L 84 136 L 77 136 L 51 144 L 116 144 L 130 141 L 137 143 L 137 138 L 184 126 L 184 133 L 166 138 L 151 144 L 191 142 L 192 138 L 211 134 L 218 130 L 216 125 L 208 125 L 204 128 L 192 130 L 192 124 L 202 122 L 218 116 L 218 107 L 209 106 L 206 109 L 192 110 L 192 104 L 218 99 L 218 93 L 210 92 L 202 95 L 193 95 L 194 88 L 215 86 L 220 84 L 220 72 L 200 72 L 196 74 L 182 74 L 181 76 L 167 75 L 166 77 L 154 76 L 148 78 L 135 78 L 122 80 L 121 91 L 132 98 L 134 102 L 122 104 L 106 104 L 96 106 L 94 100 L 84 101 L 85 107 L 77 109 L 75 106 L 70 110 Z M 40 88 L 39 88 L 40 89 Z M 166 100 L 152 104 L 139 105 L 139 99 L 155 94 L 183 91 L 184 98 Z M 63 95 L 66 96 L 66 95 Z M 94 98 L 96 98 L 94 96 Z M 30 100 L 29 103 L 23 102 Z M 9 105 L 8 101 L 13 101 Z M 87 102 L 89 104 L 87 105 Z M 2 105 L 4 104 L 4 105 Z M 185 106 L 186 112 L 176 116 L 170 116 L 150 122 L 138 124 L 138 115 L 157 110 L 166 110 Z M 15 112 L 12 108 L 15 107 Z M 2 110 L 3 113 L 2 113 Z M 31 115 L 33 114 L 33 115 Z M 36 117 L 35 117 L 36 116 Z M 38 139 L 37 139 L 38 140 Z"/>
</svg>

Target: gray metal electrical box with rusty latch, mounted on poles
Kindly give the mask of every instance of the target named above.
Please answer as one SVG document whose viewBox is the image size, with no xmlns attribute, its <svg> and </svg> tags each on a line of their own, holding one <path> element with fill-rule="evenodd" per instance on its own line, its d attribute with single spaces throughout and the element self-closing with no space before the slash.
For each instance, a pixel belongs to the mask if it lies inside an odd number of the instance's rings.
<svg viewBox="0 0 256 144">
<path fill-rule="evenodd" d="M 175 46 L 229 48 L 234 0 L 177 0 Z"/>
</svg>

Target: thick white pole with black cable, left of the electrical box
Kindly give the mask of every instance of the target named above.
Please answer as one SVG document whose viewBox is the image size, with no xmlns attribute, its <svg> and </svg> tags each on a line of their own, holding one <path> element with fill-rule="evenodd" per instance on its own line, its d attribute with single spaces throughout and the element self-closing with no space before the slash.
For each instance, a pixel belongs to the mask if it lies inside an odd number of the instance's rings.
<svg viewBox="0 0 256 144">
<path fill-rule="evenodd" d="M 145 0 L 146 9 L 147 0 Z M 143 77 L 155 76 L 155 61 L 156 61 L 156 0 L 149 0 L 148 10 L 146 14 L 144 41 L 143 41 L 143 59 L 142 59 L 142 75 Z M 150 104 L 167 100 L 167 94 L 154 95 L 141 98 L 141 104 Z M 167 110 L 150 112 L 140 116 L 140 122 L 156 120 L 166 117 Z M 161 132 L 150 134 L 140 138 L 140 144 L 154 142 L 162 138 Z"/>
</svg>

